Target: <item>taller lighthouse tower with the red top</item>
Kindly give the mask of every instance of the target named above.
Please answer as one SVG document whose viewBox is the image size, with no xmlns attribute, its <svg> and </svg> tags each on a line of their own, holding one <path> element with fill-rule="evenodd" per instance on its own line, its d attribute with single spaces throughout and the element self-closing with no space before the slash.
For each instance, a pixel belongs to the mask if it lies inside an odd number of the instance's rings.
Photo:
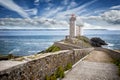
<svg viewBox="0 0 120 80">
<path fill-rule="evenodd" d="M 71 18 L 70 18 L 70 30 L 69 30 L 69 33 L 70 33 L 70 38 L 73 38 L 73 37 L 75 37 L 76 35 L 75 35 L 75 28 L 76 28 L 76 23 L 75 23 L 75 21 L 76 21 L 76 17 L 75 17 L 75 15 L 74 14 L 72 14 L 71 15 Z"/>
</svg>

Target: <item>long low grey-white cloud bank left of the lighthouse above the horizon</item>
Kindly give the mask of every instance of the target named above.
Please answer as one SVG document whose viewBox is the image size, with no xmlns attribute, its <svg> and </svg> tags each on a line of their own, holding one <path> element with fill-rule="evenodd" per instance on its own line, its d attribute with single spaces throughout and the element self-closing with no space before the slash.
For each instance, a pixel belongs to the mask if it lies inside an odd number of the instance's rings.
<svg viewBox="0 0 120 80">
<path fill-rule="evenodd" d="M 21 18 L 1 18 L 0 29 L 67 29 L 66 21 L 56 21 L 45 17 L 35 17 L 32 19 Z"/>
</svg>

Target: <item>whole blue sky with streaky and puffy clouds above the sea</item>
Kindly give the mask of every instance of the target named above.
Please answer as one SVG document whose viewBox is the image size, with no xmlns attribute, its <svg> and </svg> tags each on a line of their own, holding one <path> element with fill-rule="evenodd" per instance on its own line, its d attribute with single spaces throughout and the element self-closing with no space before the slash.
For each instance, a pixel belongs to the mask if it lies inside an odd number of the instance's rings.
<svg viewBox="0 0 120 80">
<path fill-rule="evenodd" d="M 68 29 L 72 14 L 84 29 L 120 30 L 120 0 L 0 0 L 0 29 Z"/>
</svg>

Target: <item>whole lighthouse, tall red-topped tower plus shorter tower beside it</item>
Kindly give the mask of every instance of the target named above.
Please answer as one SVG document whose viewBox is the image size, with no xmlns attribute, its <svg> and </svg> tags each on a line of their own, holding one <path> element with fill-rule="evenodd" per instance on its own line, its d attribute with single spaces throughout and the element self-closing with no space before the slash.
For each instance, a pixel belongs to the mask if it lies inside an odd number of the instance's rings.
<svg viewBox="0 0 120 80">
<path fill-rule="evenodd" d="M 70 23 L 69 23 L 69 37 L 74 38 L 76 36 L 81 36 L 81 28 L 83 25 L 77 23 L 76 25 L 76 16 L 74 14 L 71 15 L 70 17 Z"/>
</svg>

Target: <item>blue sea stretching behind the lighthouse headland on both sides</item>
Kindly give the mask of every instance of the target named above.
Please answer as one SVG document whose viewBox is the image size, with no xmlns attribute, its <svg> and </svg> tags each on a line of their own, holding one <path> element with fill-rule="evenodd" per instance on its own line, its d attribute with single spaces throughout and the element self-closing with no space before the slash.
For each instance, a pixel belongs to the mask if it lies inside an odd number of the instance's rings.
<svg viewBox="0 0 120 80">
<path fill-rule="evenodd" d="M 14 54 L 27 56 L 47 49 L 54 42 L 65 39 L 68 29 L 1 29 L 0 55 Z M 88 38 L 100 37 L 108 49 L 120 50 L 120 31 L 106 29 L 83 30 L 82 35 Z"/>
</svg>

